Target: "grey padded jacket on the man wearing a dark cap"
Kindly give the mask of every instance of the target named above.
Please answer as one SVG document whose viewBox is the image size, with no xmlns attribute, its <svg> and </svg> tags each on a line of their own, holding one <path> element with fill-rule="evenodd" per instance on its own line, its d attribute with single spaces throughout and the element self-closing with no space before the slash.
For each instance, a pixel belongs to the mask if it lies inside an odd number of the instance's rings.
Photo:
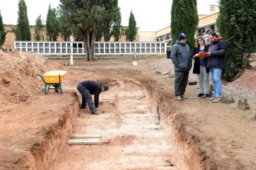
<svg viewBox="0 0 256 170">
<path fill-rule="evenodd" d="M 189 45 L 176 41 L 170 58 L 173 60 L 175 71 L 189 71 L 191 69 L 192 59 Z"/>
</svg>

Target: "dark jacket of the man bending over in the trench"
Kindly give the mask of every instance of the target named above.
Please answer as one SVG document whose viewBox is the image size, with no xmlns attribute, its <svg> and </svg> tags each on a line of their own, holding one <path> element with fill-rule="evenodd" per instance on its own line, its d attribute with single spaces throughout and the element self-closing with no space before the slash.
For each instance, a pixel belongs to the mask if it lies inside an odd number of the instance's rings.
<svg viewBox="0 0 256 170">
<path fill-rule="evenodd" d="M 99 83 L 99 82 L 93 81 L 93 80 L 86 80 L 86 81 L 80 82 L 79 84 L 86 87 L 86 89 L 90 91 L 90 94 L 94 94 L 94 106 L 95 106 L 95 108 L 98 108 L 99 96 L 100 96 L 100 92 L 102 90 L 102 83 Z"/>
</svg>

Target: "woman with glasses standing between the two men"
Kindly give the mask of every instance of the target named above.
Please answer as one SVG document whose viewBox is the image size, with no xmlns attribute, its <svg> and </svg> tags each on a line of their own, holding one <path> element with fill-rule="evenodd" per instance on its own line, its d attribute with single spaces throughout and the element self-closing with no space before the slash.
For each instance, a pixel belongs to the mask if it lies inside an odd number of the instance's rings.
<svg viewBox="0 0 256 170">
<path fill-rule="evenodd" d="M 193 48 L 192 56 L 198 54 L 199 52 L 208 52 L 209 45 L 206 44 L 206 40 L 203 36 L 198 36 L 196 38 L 196 47 Z M 209 86 L 209 72 L 208 58 L 196 57 L 194 62 L 193 73 L 198 74 L 199 80 L 199 94 L 197 97 L 210 97 L 210 86 Z"/>
</svg>

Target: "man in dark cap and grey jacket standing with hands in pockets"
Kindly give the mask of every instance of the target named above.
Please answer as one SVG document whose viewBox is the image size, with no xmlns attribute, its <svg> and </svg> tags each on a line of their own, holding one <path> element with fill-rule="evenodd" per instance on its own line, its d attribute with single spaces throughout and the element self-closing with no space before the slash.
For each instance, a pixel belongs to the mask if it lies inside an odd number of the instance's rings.
<svg viewBox="0 0 256 170">
<path fill-rule="evenodd" d="M 187 37 L 181 33 L 179 39 L 173 45 L 170 58 L 174 64 L 175 71 L 175 96 L 178 101 L 185 99 L 185 91 L 189 80 L 189 70 L 192 66 L 192 59 L 189 45 L 186 44 Z"/>
</svg>

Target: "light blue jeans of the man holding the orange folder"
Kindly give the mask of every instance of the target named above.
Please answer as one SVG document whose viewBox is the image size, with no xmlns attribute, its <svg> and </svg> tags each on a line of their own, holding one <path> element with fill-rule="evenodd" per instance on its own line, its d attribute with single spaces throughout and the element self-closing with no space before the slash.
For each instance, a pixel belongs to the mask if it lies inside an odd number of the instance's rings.
<svg viewBox="0 0 256 170">
<path fill-rule="evenodd" d="M 210 78 L 213 81 L 213 96 L 222 97 L 222 69 L 210 68 Z"/>
</svg>

